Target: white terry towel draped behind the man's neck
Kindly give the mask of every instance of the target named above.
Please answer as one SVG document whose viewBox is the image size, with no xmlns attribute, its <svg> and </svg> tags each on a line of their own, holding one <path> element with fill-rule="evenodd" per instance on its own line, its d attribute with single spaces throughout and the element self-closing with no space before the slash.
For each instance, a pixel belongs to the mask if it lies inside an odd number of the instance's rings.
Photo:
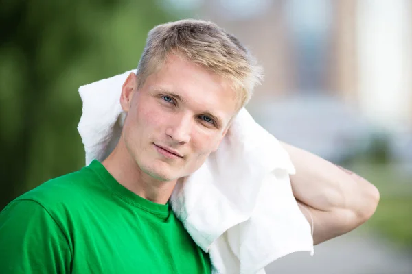
<svg viewBox="0 0 412 274">
<path fill-rule="evenodd" d="M 119 140 L 125 117 L 119 98 L 130 72 L 79 88 L 86 164 L 104 160 Z M 242 108 L 218 150 L 176 185 L 172 210 L 210 254 L 213 273 L 264 273 L 289 253 L 313 253 L 310 224 L 290 186 L 293 173 L 288 153 Z"/>
</svg>

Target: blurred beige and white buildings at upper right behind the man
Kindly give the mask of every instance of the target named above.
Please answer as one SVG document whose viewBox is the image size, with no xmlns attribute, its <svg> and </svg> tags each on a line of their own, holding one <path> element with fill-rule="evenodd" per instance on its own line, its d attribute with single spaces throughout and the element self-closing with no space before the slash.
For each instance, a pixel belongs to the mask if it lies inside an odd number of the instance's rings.
<svg viewBox="0 0 412 274">
<path fill-rule="evenodd" d="M 318 92 L 412 126 L 412 1 L 210 0 L 196 13 L 238 36 L 266 71 L 257 96 Z"/>
</svg>

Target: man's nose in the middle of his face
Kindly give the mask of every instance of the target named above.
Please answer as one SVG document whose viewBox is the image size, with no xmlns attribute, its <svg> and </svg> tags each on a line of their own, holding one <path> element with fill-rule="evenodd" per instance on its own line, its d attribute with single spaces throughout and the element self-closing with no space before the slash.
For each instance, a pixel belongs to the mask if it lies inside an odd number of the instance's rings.
<svg viewBox="0 0 412 274">
<path fill-rule="evenodd" d="M 181 145 L 190 141 L 193 119 L 190 114 L 176 114 L 166 129 L 166 134 L 174 142 Z"/>
</svg>

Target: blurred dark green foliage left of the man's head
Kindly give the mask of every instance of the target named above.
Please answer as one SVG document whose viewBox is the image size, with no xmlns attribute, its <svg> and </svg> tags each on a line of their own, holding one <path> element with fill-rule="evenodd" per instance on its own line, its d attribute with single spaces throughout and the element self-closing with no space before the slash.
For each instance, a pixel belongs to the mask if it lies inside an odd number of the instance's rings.
<svg viewBox="0 0 412 274">
<path fill-rule="evenodd" d="M 0 210 L 80 169 L 78 87 L 137 66 L 155 1 L 0 1 Z"/>
</svg>

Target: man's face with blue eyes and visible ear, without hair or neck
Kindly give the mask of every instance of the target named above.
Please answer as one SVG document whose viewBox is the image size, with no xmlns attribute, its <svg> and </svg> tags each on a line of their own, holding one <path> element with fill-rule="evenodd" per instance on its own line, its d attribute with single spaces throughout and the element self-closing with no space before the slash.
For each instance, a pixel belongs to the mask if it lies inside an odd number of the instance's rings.
<svg viewBox="0 0 412 274">
<path fill-rule="evenodd" d="M 133 91 L 127 92 L 128 87 Z M 128 153 L 156 179 L 190 175 L 218 148 L 236 105 L 229 81 L 170 55 L 140 90 L 134 75 L 124 84 L 122 107 L 128 115 L 123 134 Z"/>
</svg>

